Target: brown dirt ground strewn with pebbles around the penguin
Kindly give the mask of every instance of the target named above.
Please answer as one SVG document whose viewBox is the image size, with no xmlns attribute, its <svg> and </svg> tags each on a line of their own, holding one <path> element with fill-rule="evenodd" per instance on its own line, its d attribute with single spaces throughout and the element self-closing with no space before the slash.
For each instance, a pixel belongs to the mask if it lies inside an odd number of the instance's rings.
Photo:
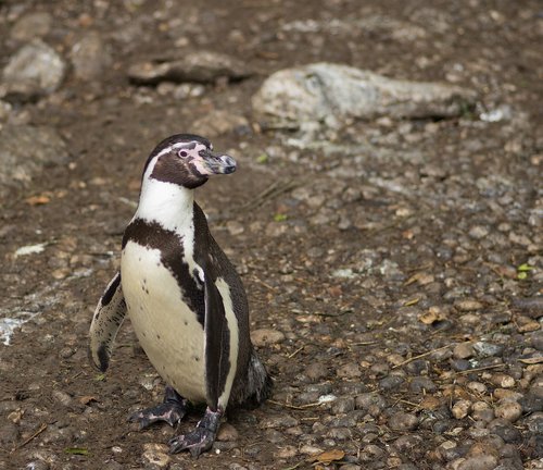
<svg viewBox="0 0 543 470">
<path fill-rule="evenodd" d="M 39 314 L 0 345 L 0 469 L 542 468 L 541 2 L 0 1 L 1 66 L 28 12 L 54 18 L 43 40 L 66 60 L 93 30 L 112 63 L 92 81 L 68 70 L 59 90 L 10 111 L 56 129 L 70 163 L 2 201 L 2 311 Z M 367 22 L 343 30 L 332 18 Z M 325 26 L 285 27 L 307 20 Z M 135 62 L 199 49 L 253 74 L 184 99 L 127 78 Z M 316 61 L 453 82 L 480 104 L 458 119 L 355 123 L 367 145 L 354 157 L 292 148 L 253 125 L 250 98 L 273 72 Z M 509 116 L 479 119 L 495 109 Z M 239 170 L 197 198 L 242 273 L 252 329 L 269 330 L 258 351 L 275 393 L 235 413 L 237 435 L 212 453 L 164 463 L 149 455 L 174 431 L 126 422 L 163 393 L 129 322 L 105 376 L 87 360 L 88 329 L 150 150 L 216 111 L 249 122 L 207 136 Z M 45 250 L 14 255 L 35 244 Z M 465 342 L 475 349 L 459 351 Z M 332 462 L 315 463 L 330 449 Z M 490 463 L 467 467 L 473 456 Z"/>
</svg>

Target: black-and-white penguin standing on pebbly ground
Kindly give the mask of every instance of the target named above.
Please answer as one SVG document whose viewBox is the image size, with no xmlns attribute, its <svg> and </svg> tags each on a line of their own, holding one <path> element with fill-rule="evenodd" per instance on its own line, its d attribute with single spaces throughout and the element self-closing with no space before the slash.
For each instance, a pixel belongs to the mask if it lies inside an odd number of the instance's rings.
<svg viewBox="0 0 543 470">
<path fill-rule="evenodd" d="M 89 356 L 108 370 L 126 316 L 150 362 L 167 384 L 160 405 L 137 411 L 140 429 L 176 426 L 191 404 L 205 404 L 194 430 L 169 441 L 169 452 L 198 457 L 213 445 L 227 407 L 254 407 L 273 381 L 249 335 L 249 307 L 236 269 L 210 233 L 194 189 L 236 171 L 192 134 L 160 143 L 143 168 L 136 213 L 125 230 L 121 269 L 94 310 Z"/>
</svg>

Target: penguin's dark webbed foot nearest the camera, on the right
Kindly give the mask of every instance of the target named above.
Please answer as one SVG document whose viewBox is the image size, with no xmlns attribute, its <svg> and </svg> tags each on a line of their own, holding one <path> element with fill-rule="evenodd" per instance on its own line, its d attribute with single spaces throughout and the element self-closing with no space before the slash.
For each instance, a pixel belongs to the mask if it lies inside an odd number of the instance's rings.
<svg viewBox="0 0 543 470">
<path fill-rule="evenodd" d="M 169 453 L 177 454 L 181 450 L 189 450 L 192 457 L 199 457 L 200 454 L 209 450 L 215 442 L 222 416 L 220 409 L 212 411 L 211 408 L 207 408 L 194 431 L 169 441 Z"/>
</svg>

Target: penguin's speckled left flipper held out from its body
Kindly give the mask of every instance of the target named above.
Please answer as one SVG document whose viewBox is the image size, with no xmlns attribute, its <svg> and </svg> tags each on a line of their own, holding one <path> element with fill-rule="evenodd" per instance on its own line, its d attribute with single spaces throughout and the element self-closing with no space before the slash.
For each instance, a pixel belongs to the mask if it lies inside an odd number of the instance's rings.
<svg viewBox="0 0 543 470">
<path fill-rule="evenodd" d="M 126 302 L 117 271 L 105 288 L 90 324 L 89 358 L 101 372 L 110 366 L 113 342 L 126 316 Z"/>
</svg>

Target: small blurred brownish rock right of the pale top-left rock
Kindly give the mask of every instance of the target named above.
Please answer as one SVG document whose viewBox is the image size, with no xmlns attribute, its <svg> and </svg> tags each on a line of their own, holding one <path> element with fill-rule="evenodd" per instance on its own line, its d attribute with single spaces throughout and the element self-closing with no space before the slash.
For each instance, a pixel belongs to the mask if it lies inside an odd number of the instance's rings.
<svg viewBox="0 0 543 470">
<path fill-rule="evenodd" d="M 96 32 L 87 33 L 73 47 L 70 55 L 74 66 L 74 75 L 84 81 L 100 78 L 112 65 L 108 45 Z"/>
</svg>

